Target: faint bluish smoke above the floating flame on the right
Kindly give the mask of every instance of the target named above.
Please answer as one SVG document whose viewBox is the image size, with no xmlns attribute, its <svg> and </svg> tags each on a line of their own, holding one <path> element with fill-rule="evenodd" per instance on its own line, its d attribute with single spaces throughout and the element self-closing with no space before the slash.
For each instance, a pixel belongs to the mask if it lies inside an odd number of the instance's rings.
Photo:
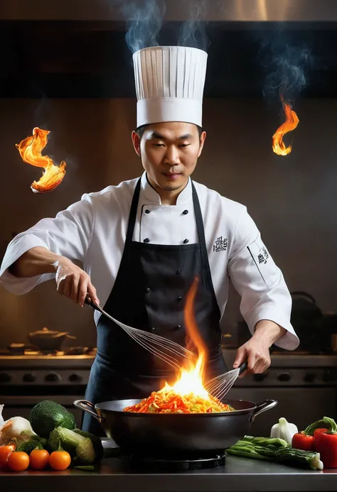
<svg viewBox="0 0 337 492">
<path fill-rule="evenodd" d="M 267 72 L 263 94 L 265 97 L 282 97 L 286 104 L 292 105 L 307 84 L 310 50 L 289 45 L 281 48 L 269 45 L 269 50 L 271 53 L 263 62 Z"/>
</svg>

